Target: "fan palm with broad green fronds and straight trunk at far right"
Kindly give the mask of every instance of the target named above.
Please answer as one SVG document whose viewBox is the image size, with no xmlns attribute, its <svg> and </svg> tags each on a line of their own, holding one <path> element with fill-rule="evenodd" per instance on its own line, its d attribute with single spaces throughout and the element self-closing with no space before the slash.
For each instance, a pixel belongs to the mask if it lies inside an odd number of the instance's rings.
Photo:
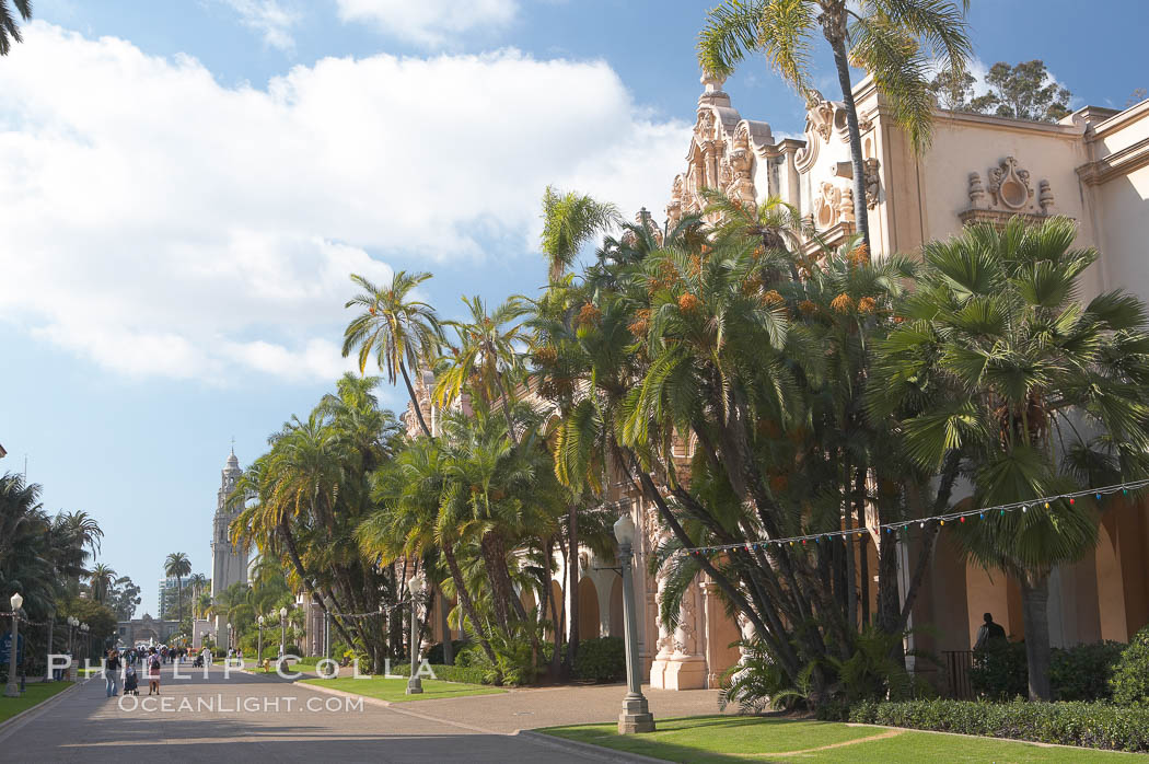
<svg viewBox="0 0 1149 764">
<path fill-rule="evenodd" d="M 1146 307 L 1120 291 L 1078 302 L 1097 258 L 1073 248 L 1075 224 L 1051 218 L 972 226 L 923 247 L 919 288 L 884 345 L 878 388 L 938 395 L 901 423 L 910 454 L 934 468 L 961 453 L 974 506 L 1034 501 L 1149 473 Z M 1101 433 L 1089 435 L 1089 433 Z M 964 553 L 1021 588 L 1030 696 L 1048 700 L 1049 576 L 1096 545 L 1094 507 L 1041 501 L 958 526 Z"/>
</svg>

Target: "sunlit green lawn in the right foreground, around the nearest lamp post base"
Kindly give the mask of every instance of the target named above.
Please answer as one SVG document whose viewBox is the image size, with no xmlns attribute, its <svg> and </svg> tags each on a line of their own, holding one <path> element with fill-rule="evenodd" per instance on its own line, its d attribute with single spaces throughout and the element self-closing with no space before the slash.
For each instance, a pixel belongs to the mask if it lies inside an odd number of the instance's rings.
<svg viewBox="0 0 1149 764">
<path fill-rule="evenodd" d="M 831 721 L 701 716 L 656 719 L 657 731 L 618 735 L 615 724 L 585 724 L 539 730 L 546 734 L 668 762 L 1138 762 L 1146 757 L 1085 748 L 1049 748 L 990 738 L 963 738 L 931 732 L 855 727 Z M 879 738 L 879 735 L 890 735 Z M 866 740 L 870 739 L 870 740 Z M 855 742 L 849 742 L 855 741 Z M 835 743 L 847 743 L 826 748 Z M 823 750 L 811 750 L 822 748 Z"/>
</svg>

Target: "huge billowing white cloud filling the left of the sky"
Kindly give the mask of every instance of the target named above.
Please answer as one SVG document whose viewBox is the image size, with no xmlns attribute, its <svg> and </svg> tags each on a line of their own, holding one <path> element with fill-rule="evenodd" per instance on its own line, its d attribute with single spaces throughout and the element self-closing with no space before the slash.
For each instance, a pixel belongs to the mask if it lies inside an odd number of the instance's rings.
<svg viewBox="0 0 1149 764">
<path fill-rule="evenodd" d="M 548 183 L 655 209 L 689 131 L 606 63 L 515 51 L 326 59 L 267 90 L 44 22 L 21 54 L 0 319 L 126 375 L 330 379 L 348 273 L 432 258 L 469 288 L 480 240 L 533 246 Z"/>
</svg>

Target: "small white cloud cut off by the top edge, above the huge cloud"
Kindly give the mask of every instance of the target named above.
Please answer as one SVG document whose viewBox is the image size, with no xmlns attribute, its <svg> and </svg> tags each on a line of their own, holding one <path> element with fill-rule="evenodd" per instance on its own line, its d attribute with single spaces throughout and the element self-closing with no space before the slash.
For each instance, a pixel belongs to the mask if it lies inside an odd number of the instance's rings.
<svg viewBox="0 0 1149 764">
<path fill-rule="evenodd" d="M 500 29 L 515 20 L 518 0 L 336 0 L 339 18 L 425 47 L 450 46 L 460 34 Z"/>
</svg>

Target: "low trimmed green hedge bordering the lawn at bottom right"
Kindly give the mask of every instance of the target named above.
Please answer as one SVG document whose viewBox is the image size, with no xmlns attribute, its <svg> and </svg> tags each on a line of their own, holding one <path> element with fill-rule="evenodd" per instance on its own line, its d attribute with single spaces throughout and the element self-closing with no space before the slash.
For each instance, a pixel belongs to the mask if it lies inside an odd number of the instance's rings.
<svg viewBox="0 0 1149 764">
<path fill-rule="evenodd" d="M 1109 703 L 865 701 L 850 709 L 850 721 L 1149 753 L 1149 709 Z"/>
</svg>

